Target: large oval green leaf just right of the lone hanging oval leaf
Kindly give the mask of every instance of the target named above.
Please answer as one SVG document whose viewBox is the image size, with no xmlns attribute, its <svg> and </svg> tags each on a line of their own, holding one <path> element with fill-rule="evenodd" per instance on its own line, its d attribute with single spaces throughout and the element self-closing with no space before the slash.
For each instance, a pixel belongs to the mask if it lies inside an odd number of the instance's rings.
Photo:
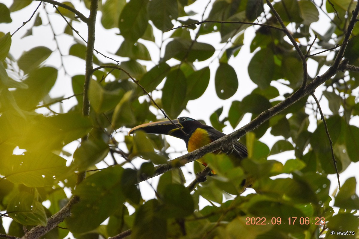
<svg viewBox="0 0 359 239">
<path fill-rule="evenodd" d="M 274 54 L 270 48 L 260 49 L 248 65 L 248 75 L 261 89 L 269 86 L 274 75 Z"/>
</svg>

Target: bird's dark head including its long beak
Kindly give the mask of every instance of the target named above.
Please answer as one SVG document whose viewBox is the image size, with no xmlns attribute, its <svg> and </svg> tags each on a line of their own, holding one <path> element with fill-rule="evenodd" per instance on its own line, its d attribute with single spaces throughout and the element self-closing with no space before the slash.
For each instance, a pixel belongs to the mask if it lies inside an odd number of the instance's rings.
<svg viewBox="0 0 359 239">
<path fill-rule="evenodd" d="M 167 134 L 180 139 L 185 139 L 191 135 L 197 128 L 202 128 L 205 125 L 201 122 L 189 118 L 189 117 L 180 117 L 176 120 L 172 120 L 174 124 L 169 120 L 146 123 L 138 125 L 132 128 L 129 131 L 129 135 L 135 133 L 137 130 L 143 130 L 149 134 Z M 180 128 L 187 134 L 183 134 Z"/>
</svg>

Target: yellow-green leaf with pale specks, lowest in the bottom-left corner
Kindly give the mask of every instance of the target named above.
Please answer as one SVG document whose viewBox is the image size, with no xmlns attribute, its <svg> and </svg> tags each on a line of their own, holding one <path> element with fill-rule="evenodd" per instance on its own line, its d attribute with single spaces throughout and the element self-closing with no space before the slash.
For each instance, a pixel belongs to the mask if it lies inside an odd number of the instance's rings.
<svg viewBox="0 0 359 239">
<path fill-rule="evenodd" d="M 6 210 L 11 218 L 22 225 L 46 226 L 47 224 L 42 204 L 34 199 L 34 195 L 28 192 L 19 192 L 15 195 L 9 201 Z"/>
</svg>

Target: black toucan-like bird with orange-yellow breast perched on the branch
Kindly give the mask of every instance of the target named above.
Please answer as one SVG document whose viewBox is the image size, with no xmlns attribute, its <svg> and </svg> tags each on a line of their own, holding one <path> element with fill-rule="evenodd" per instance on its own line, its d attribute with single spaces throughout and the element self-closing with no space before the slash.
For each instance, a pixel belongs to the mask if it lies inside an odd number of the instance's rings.
<svg viewBox="0 0 359 239">
<path fill-rule="evenodd" d="M 171 135 L 183 139 L 186 143 L 188 152 L 199 149 L 226 135 L 212 126 L 202 124 L 200 121 L 189 117 L 180 117 L 172 121 L 174 124 L 170 120 L 141 124 L 132 128 L 129 131 L 129 135 L 135 133 L 137 130 L 143 130 L 145 133 L 149 134 Z M 221 150 L 218 150 L 215 153 L 219 153 L 220 151 Z M 248 157 L 246 146 L 238 141 L 234 141 L 233 151 L 229 152 L 229 157 L 237 161 L 235 165 L 238 165 L 242 159 Z M 203 159 L 200 158 L 197 159 L 197 161 L 204 166 L 207 166 Z M 215 174 L 213 171 L 212 173 Z M 242 186 L 250 187 L 251 185 L 244 180 Z"/>
</svg>

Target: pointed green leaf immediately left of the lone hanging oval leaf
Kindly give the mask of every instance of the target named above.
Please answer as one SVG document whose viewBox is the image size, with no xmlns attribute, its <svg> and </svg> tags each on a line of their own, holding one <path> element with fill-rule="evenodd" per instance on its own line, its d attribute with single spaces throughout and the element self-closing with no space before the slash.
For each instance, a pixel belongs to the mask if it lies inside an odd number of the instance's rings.
<svg viewBox="0 0 359 239">
<path fill-rule="evenodd" d="M 187 100 L 198 99 L 206 91 L 210 78 L 209 67 L 195 71 L 187 77 Z"/>
</svg>

